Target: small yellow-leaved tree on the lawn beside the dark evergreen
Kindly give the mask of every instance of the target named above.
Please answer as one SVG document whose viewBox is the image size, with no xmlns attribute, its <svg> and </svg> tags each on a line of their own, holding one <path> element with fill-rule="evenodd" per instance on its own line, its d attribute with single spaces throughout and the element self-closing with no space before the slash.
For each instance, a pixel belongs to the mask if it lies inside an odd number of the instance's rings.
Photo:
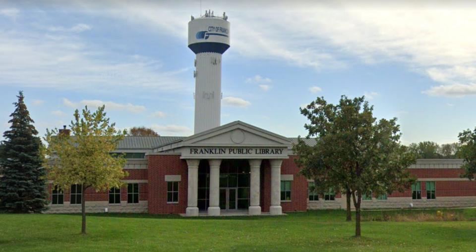
<svg viewBox="0 0 476 252">
<path fill-rule="evenodd" d="M 59 134 L 57 129 L 48 130 L 48 142 L 44 166 L 48 177 L 63 189 L 81 185 L 81 233 L 86 234 L 85 192 L 88 188 L 108 191 L 121 186 L 127 176 L 122 168 L 125 159 L 111 155 L 116 150 L 125 132 L 116 130 L 115 123 L 106 117 L 104 106 L 91 112 L 86 106 L 82 112 L 76 109 L 69 134 Z"/>
</svg>

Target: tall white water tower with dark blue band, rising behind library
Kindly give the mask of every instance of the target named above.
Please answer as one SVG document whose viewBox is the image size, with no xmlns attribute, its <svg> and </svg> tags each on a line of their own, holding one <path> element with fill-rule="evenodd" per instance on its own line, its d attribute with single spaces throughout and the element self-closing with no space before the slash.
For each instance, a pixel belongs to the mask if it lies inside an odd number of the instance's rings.
<svg viewBox="0 0 476 252">
<path fill-rule="evenodd" d="M 188 22 L 188 48 L 195 52 L 194 134 L 220 126 L 222 54 L 230 47 L 228 16 L 213 11 Z"/>
</svg>

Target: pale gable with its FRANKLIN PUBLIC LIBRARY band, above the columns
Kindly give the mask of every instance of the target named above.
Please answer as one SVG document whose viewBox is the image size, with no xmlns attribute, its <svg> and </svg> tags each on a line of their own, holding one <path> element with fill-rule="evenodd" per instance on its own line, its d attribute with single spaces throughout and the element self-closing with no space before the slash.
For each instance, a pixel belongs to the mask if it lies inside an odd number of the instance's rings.
<svg viewBox="0 0 476 252">
<path fill-rule="evenodd" d="M 182 159 L 284 159 L 290 139 L 235 121 L 176 142 L 154 152 L 180 153 Z"/>
</svg>

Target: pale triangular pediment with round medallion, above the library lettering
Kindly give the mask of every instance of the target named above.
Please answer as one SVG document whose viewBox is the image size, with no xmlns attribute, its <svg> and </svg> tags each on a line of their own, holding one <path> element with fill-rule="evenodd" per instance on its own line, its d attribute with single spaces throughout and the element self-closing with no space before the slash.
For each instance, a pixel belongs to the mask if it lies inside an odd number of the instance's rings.
<svg viewBox="0 0 476 252">
<path fill-rule="evenodd" d="M 289 147 L 291 142 L 283 136 L 236 121 L 192 135 L 184 139 L 181 146 Z"/>
</svg>

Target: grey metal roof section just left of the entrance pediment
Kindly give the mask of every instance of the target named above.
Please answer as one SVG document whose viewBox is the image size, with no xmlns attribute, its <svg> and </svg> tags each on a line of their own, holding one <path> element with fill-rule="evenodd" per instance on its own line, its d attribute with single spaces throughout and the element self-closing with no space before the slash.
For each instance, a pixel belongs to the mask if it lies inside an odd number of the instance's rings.
<svg viewBox="0 0 476 252">
<path fill-rule="evenodd" d="M 124 137 L 117 149 L 153 149 L 183 138 L 185 137 Z"/>
</svg>

